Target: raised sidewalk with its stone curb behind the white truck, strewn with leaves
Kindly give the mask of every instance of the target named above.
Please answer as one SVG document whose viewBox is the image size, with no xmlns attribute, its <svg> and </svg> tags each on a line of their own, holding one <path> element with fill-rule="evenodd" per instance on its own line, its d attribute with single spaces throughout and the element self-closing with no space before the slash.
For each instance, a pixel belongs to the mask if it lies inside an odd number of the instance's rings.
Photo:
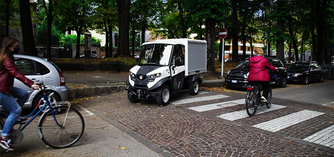
<svg viewBox="0 0 334 157">
<path fill-rule="evenodd" d="M 69 87 L 68 99 L 117 93 L 126 89 L 127 72 L 63 71 Z M 86 86 L 80 86 L 86 85 Z M 200 87 L 222 87 L 223 80 L 204 80 Z"/>
</svg>

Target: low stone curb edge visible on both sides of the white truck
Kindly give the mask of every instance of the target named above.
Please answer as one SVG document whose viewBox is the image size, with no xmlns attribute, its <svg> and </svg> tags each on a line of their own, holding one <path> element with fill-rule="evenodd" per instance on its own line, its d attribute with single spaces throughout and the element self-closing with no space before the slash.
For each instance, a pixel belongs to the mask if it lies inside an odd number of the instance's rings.
<svg viewBox="0 0 334 157">
<path fill-rule="evenodd" d="M 207 88 L 223 87 L 223 86 L 225 86 L 223 80 L 204 80 L 202 84 L 200 84 L 200 87 L 207 87 Z M 125 89 L 126 89 L 125 85 L 93 85 L 92 87 L 69 88 L 67 99 L 107 95 L 107 94 L 117 93 Z"/>
</svg>

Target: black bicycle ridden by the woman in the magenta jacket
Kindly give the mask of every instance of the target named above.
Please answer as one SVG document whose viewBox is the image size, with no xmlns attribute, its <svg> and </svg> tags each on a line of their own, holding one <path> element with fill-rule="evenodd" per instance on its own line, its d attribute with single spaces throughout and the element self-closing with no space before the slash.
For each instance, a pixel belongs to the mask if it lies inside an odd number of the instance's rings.
<svg viewBox="0 0 334 157">
<path fill-rule="evenodd" d="M 273 84 L 273 83 L 271 83 Z M 273 102 L 273 91 L 270 88 L 270 92 L 268 94 L 267 102 L 261 100 L 261 84 L 254 84 L 253 86 L 247 86 L 247 94 L 246 94 L 246 111 L 248 116 L 254 116 L 256 111 L 263 107 L 265 104 L 269 109 Z"/>
</svg>

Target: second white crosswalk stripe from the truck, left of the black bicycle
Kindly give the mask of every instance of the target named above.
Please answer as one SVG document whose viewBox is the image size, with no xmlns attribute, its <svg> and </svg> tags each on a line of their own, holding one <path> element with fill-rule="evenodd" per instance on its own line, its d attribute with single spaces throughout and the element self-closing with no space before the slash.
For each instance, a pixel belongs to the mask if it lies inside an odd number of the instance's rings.
<svg viewBox="0 0 334 157">
<path fill-rule="evenodd" d="M 221 103 L 215 103 L 215 104 L 208 104 L 208 105 L 202 105 L 202 106 L 195 106 L 190 107 L 188 109 L 198 111 L 198 112 L 204 112 L 204 111 L 210 111 L 235 105 L 241 105 L 245 103 L 245 99 L 239 99 L 239 100 L 233 100 L 228 102 L 221 102 Z"/>
</svg>

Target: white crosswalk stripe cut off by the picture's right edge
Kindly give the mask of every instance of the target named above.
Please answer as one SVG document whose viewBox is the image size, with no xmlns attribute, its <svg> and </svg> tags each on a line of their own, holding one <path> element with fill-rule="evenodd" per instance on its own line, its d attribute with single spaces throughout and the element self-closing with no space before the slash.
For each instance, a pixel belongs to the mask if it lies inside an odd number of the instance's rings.
<svg viewBox="0 0 334 157">
<path fill-rule="evenodd" d="M 334 148 L 334 125 L 306 137 L 303 140 Z"/>
</svg>

